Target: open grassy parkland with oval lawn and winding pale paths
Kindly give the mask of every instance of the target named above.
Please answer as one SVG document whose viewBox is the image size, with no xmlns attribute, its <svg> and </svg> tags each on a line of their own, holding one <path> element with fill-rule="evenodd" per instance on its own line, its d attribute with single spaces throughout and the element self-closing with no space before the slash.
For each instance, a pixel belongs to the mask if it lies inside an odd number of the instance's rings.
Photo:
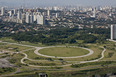
<svg viewBox="0 0 116 77">
<path fill-rule="evenodd" d="M 38 69 L 46 71 L 57 70 L 58 72 L 64 69 L 78 71 L 87 70 L 88 68 L 104 68 L 107 65 L 109 67 L 115 66 L 116 53 L 112 49 L 115 47 L 115 43 L 107 42 L 105 45 L 85 45 L 85 47 L 80 47 L 79 45 L 37 46 L 25 42 L 1 41 L 0 50 L 7 52 L 1 53 L 0 55 L 1 58 L 10 57 L 7 60 L 13 64 L 12 68 L 15 71 L 12 71 L 11 76 L 13 74 L 18 76 L 18 72 L 29 72 Z M 15 65 L 18 68 L 15 68 Z"/>
</svg>

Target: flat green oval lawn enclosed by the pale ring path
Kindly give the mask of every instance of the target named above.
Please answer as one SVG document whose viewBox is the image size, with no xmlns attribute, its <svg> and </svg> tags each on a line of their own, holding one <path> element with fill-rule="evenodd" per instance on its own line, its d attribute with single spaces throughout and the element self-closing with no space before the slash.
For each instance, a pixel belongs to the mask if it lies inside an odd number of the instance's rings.
<svg viewBox="0 0 116 77">
<path fill-rule="evenodd" d="M 71 57 L 71 56 L 81 56 L 88 54 L 89 51 L 82 48 L 73 47 L 53 47 L 41 49 L 39 53 L 50 56 L 57 57 Z"/>
</svg>

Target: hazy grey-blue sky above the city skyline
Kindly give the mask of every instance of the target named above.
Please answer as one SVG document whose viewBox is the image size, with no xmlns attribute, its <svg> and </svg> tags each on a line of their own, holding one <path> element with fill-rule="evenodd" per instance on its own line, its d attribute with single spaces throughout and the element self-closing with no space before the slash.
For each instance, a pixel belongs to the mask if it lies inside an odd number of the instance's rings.
<svg viewBox="0 0 116 77">
<path fill-rule="evenodd" d="M 77 6 L 99 6 L 116 5 L 116 0 L 0 0 L 0 6 L 19 7 L 37 6 L 59 6 L 59 5 L 77 5 Z"/>
</svg>

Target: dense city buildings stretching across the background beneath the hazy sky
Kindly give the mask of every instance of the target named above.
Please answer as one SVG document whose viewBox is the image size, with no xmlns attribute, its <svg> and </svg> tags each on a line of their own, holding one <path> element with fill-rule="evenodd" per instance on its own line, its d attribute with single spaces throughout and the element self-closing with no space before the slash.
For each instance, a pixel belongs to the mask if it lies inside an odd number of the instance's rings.
<svg viewBox="0 0 116 77">
<path fill-rule="evenodd" d="M 110 28 L 112 24 L 116 24 L 116 7 L 1 7 L 0 20 L 3 25 L 1 32 L 11 33 L 51 30 L 57 27 Z M 10 27 L 10 22 L 15 22 L 13 27 Z"/>
</svg>

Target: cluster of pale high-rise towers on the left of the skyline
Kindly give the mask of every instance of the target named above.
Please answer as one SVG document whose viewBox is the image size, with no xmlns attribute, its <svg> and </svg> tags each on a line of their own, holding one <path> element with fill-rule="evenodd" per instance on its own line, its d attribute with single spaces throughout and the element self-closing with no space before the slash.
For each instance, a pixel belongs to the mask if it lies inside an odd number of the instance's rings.
<svg viewBox="0 0 116 77">
<path fill-rule="evenodd" d="M 4 7 L 1 8 L 1 16 L 6 16 L 5 21 L 9 22 L 17 22 L 17 23 L 34 23 L 44 25 L 45 24 L 45 16 L 37 11 L 28 11 L 25 9 L 13 9 L 6 10 Z M 7 17 L 9 16 L 9 17 Z"/>
</svg>

